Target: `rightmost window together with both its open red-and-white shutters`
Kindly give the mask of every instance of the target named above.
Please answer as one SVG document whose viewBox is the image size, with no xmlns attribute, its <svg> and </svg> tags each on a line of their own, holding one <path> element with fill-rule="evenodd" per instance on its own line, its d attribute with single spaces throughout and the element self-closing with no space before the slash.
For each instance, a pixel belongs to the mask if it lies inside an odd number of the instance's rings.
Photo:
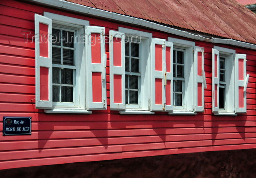
<svg viewBox="0 0 256 178">
<path fill-rule="evenodd" d="M 246 55 L 214 46 L 212 49 L 212 111 L 218 115 L 246 112 Z"/>
</svg>

